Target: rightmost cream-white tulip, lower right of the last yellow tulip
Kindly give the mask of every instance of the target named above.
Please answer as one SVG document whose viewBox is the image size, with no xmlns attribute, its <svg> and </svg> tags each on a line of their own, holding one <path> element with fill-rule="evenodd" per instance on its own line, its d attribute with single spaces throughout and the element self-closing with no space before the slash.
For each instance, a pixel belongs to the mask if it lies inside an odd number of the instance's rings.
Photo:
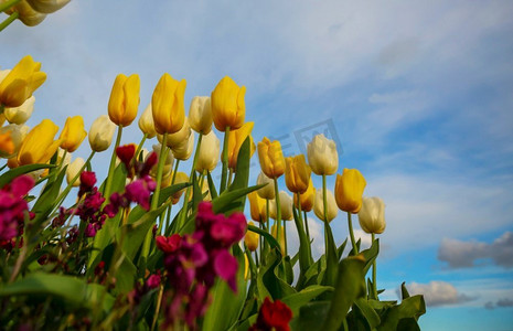
<svg viewBox="0 0 513 331">
<path fill-rule="evenodd" d="M 385 231 L 385 203 L 377 196 L 363 197 L 359 222 L 366 233 L 381 234 Z"/>
</svg>

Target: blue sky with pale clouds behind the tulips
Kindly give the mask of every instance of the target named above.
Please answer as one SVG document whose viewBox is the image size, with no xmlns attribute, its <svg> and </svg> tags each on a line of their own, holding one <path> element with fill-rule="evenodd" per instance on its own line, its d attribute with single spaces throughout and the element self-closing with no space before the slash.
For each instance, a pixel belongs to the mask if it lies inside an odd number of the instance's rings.
<svg viewBox="0 0 513 331">
<path fill-rule="evenodd" d="M 336 136 L 339 172 L 360 169 L 383 197 L 383 298 L 406 281 L 428 299 L 423 330 L 513 330 L 511 1 L 120 3 L 72 1 L 0 34 L 2 68 L 31 54 L 49 75 L 29 125 L 79 114 L 89 127 L 119 73 L 140 75 L 140 111 L 164 72 L 188 81 L 188 103 L 229 75 L 255 139 L 291 154 L 297 136 Z M 332 226 L 343 241 L 345 215 Z"/>
</svg>

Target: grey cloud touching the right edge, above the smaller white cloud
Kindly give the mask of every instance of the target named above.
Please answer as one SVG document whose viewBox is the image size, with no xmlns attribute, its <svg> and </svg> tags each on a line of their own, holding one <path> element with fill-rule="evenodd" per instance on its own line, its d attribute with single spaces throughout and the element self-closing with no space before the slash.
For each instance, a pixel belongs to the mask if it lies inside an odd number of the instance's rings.
<svg viewBox="0 0 513 331">
<path fill-rule="evenodd" d="M 438 248 L 438 259 L 449 268 L 474 267 L 479 259 L 492 259 L 498 266 L 513 267 L 513 232 L 505 232 L 493 243 L 463 242 L 443 238 Z"/>
</svg>

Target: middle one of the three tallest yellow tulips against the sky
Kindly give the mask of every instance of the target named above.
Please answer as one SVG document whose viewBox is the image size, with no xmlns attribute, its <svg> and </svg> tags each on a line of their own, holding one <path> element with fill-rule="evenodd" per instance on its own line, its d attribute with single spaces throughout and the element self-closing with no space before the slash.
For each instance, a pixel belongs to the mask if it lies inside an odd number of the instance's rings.
<svg viewBox="0 0 513 331">
<path fill-rule="evenodd" d="M 185 86 L 185 79 L 179 82 L 168 73 L 163 74 L 157 83 L 151 97 L 151 109 L 158 134 L 174 134 L 183 127 Z"/>
</svg>

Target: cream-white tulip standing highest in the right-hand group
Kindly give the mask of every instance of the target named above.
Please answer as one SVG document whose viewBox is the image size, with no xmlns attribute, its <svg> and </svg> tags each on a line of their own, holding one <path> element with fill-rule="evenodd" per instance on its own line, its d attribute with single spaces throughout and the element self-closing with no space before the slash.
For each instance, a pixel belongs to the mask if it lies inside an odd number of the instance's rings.
<svg viewBox="0 0 513 331">
<path fill-rule="evenodd" d="M 317 135 L 307 147 L 308 163 L 316 174 L 333 174 L 339 168 L 339 154 L 333 140 Z"/>
</svg>

